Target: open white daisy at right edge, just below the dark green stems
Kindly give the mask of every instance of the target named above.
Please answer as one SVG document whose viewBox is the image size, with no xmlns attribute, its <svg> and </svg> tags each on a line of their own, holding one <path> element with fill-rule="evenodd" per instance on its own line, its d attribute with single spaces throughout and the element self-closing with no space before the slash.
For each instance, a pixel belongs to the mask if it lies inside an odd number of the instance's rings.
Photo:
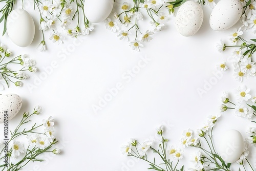
<svg viewBox="0 0 256 171">
<path fill-rule="evenodd" d="M 241 59 L 241 71 L 247 75 L 254 75 L 256 72 L 256 66 L 254 62 L 251 62 L 251 58 L 248 58 L 247 55 Z"/>
</svg>

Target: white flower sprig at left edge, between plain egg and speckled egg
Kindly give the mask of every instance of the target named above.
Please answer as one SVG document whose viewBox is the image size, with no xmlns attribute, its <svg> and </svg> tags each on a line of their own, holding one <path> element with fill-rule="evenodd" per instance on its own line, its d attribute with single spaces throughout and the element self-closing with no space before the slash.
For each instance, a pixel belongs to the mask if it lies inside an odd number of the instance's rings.
<svg viewBox="0 0 256 171">
<path fill-rule="evenodd" d="M 35 67 L 35 61 L 29 58 L 26 54 L 11 58 L 12 52 L 7 49 L 7 46 L 4 44 L 0 45 L 0 52 L 0 80 L 4 79 L 8 87 L 9 82 L 14 83 L 17 87 L 22 86 L 23 82 L 20 80 L 29 78 L 29 76 L 26 74 L 26 71 L 37 71 L 37 68 Z M 20 65 L 22 68 L 20 70 L 11 70 L 9 66 L 12 64 Z M 14 81 L 14 79 L 18 81 Z"/>
</svg>

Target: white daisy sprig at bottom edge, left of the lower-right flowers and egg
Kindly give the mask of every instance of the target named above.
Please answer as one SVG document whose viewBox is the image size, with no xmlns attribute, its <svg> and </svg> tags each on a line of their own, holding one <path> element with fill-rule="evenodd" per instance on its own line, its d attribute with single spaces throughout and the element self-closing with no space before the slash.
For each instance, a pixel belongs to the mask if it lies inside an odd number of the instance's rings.
<svg viewBox="0 0 256 171">
<path fill-rule="evenodd" d="M 179 160 L 183 158 L 184 150 L 182 147 L 177 147 L 174 145 L 167 147 L 168 140 L 163 137 L 163 132 L 163 126 L 159 126 L 157 128 L 157 134 L 161 136 L 161 143 L 158 144 L 160 150 L 153 147 L 153 140 L 147 139 L 144 142 L 139 143 L 137 140 L 131 139 L 130 142 L 121 147 L 122 153 L 127 156 L 135 157 L 147 162 L 150 164 L 150 168 L 148 169 L 182 171 L 183 166 L 178 169 L 177 165 Z M 157 154 L 162 159 L 163 163 L 157 164 L 155 162 L 155 158 L 153 162 L 150 161 L 147 156 L 148 151 L 152 151 L 153 153 Z M 176 161 L 175 165 L 174 161 Z"/>
</svg>

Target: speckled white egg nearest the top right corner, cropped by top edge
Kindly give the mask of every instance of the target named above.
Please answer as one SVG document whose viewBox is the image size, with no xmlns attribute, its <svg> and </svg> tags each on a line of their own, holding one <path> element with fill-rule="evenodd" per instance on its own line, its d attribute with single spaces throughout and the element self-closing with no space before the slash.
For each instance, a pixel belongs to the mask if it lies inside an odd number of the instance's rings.
<svg viewBox="0 0 256 171">
<path fill-rule="evenodd" d="M 221 0 L 210 14 L 210 27 L 213 30 L 226 30 L 235 25 L 243 12 L 239 0 Z"/>
</svg>

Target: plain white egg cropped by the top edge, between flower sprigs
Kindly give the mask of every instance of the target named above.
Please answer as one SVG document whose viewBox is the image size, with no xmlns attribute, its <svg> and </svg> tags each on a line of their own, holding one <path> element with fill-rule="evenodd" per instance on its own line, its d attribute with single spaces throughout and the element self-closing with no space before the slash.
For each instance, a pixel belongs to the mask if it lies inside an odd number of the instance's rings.
<svg viewBox="0 0 256 171">
<path fill-rule="evenodd" d="M 111 13 L 114 0 L 84 0 L 84 14 L 89 22 L 99 23 Z"/>
</svg>

